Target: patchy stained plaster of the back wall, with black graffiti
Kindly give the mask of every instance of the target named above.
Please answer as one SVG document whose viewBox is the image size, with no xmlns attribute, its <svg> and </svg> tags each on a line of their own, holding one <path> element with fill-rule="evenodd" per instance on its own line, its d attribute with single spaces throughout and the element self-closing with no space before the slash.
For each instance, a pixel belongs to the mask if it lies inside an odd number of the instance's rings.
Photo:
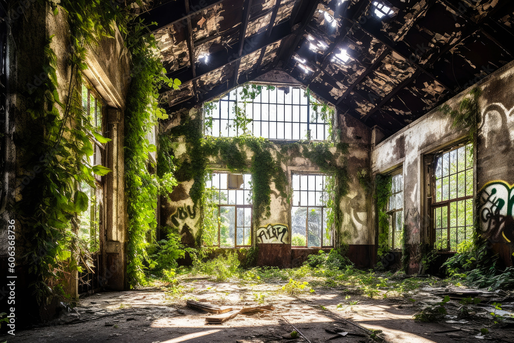
<svg viewBox="0 0 514 343">
<path fill-rule="evenodd" d="M 180 117 L 188 116 L 190 113 L 172 114 L 172 118 L 162 129 L 167 131 L 177 127 L 181 122 Z M 374 227 L 369 216 L 371 210 L 371 197 L 366 194 L 359 183 L 357 172 L 369 171 L 369 153 L 371 130 L 364 124 L 352 117 L 338 114 L 338 124 L 336 130 L 342 142 L 348 143 L 348 155 L 344 156 L 346 168 L 349 176 L 350 192 L 344 196 L 340 203 L 343 213 L 343 225 L 336 229 L 339 232 L 341 242 L 353 246 L 354 256 L 360 260 L 368 261 L 362 263 L 365 266 L 371 265 L 372 248 L 374 244 Z M 172 146 L 176 160 L 189 158 L 189 147 L 182 138 L 175 138 Z M 303 149 L 300 147 L 300 149 Z M 272 156 L 277 159 L 281 154 L 280 143 L 272 148 Z M 334 153 L 336 148 L 332 148 Z M 251 164 L 251 151 L 247 153 L 247 166 Z M 291 152 L 292 154 L 292 152 Z M 290 155 L 287 164 L 282 164 L 282 169 L 287 175 L 287 192 L 292 194 L 291 175 L 293 173 L 313 172 L 319 173 L 318 166 L 304 158 L 302 154 Z M 284 159 L 283 159 L 284 160 Z M 211 158 L 211 168 L 214 171 L 226 171 L 227 167 L 221 161 Z M 342 165 L 341 165 L 342 167 Z M 173 192 L 161 198 L 160 206 L 160 225 L 171 226 L 182 234 L 182 242 L 193 244 L 194 238 L 199 230 L 200 211 L 193 206 L 189 197 L 189 192 L 193 187 L 193 180 L 185 180 L 177 185 Z M 291 255 L 291 204 L 282 197 L 279 191 L 271 184 L 271 204 L 270 215 L 261 220 L 258 225 L 253 227 L 252 239 L 260 245 L 259 263 L 263 265 L 290 266 L 292 263 Z M 277 233 L 277 237 L 273 233 Z M 338 240 L 336 240 L 338 241 Z M 283 244 L 284 242 L 285 244 Z M 319 249 L 301 249 L 295 252 L 295 259 L 300 261 L 305 254 L 316 253 Z M 306 251 L 300 251 L 306 250 Z M 302 257 L 303 256 L 303 257 Z M 297 261 L 297 262 L 298 262 Z M 296 262 L 295 262 L 296 263 Z M 293 263 L 294 264 L 294 263 Z"/>
</svg>

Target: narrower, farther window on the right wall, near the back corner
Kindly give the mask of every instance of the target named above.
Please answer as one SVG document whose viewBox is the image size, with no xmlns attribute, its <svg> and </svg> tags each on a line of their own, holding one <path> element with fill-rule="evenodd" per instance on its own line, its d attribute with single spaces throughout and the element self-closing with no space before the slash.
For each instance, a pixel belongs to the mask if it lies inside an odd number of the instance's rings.
<svg viewBox="0 0 514 343">
<path fill-rule="evenodd" d="M 391 250 L 401 249 L 403 228 L 403 176 L 392 175 L 391 196 L 387 205 L 389 214 L 389 246 Z"/>
</svg>

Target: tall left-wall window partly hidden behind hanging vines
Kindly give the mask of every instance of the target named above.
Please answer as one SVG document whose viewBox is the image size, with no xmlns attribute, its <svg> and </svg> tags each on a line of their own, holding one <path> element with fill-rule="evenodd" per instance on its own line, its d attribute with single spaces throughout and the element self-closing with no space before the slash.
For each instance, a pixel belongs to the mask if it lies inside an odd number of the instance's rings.
<svg viewBox="0 0 514 343">
<path fill-rule="evenodd" d="M 89 120 L 89 123 L 94 130 L 103 135 L 102 124 L 102 100 L 97 97 L 95 93 L 87 85 L 82 85 L 82 109 Z M 103 152 L 105 147 L 102 143 L 93 139 L 93 155 L 88 156 L 88 163 L 91 166 L 101 165 Z M 81 190 L 89 197 L 88 208 L 81 212 L 79 216 L 79 237 L 89 242 L 91 251 L 99 249 L 100 229 L 102 223 L 102 210 L 103 210 L 103 179 L 102 176 L 94 175 L 96 180 L 96 187 L 91 187 L 87 183 L 82 182 L 80 185 Z"/>
</svg>

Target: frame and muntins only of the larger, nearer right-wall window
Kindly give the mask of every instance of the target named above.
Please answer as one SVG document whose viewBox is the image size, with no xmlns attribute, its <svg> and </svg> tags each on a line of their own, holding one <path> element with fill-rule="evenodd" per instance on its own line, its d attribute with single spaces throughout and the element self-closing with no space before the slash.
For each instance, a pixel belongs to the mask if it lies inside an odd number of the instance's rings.
<svg viewBox="0 0 514 343">
<path fill-rule="evenodd" d="M 461 148 L 464 148 L 464 170 L 459 170 L 458 169 L 458 149 L 461 149 Z M 471 158 L 472 158 L 472 165 L 471 166 L 468 166 L 468 161 L 467 161 L 467 153 L 468 153 L 468 149 L 472 149 L 472 142 L 470 142 L 469 140 L 465 140 L 465 141 L 461 141 L 461 142 L 457 142 L 455 143 L 454 145 L 451 145 L 449 147 L 446 147 L 444 149 L 441 149 L 439 151 L 437 151 L 436 153 L 433 154 L 432 156 L 432 161 L 431 161 L 431 164 L 430 164 L 430 192 L 431 192 L 431 197 L 430 197 L 430 205 L 429 205 L 429 210 L 430 210 L 430 218 L 431 218 L 431 221 L 430 221 L 430 228 L 431 228 L 431 237 L 432 237 L 432 246 L 434 247 L 434 249 L 438 252 L 447 252 L 447 253 L 455 253 L 456 252 L 456 248 L 459 244 L 459 239 L 458 239 L 458 230 L 460 228 L 464 228 L 464 233 L 465 233 L 465 238 L 464 240 L 469 240 L 471 239 L 472 237 L 470 238 L 467 238 L 467 231 L 469 228 L 471 228 L 471 230 L 473 230 L 473 220 L 474 220 L 474 214 L 475 214 L 475 202 L 474 202 L 474 187 L 472 187 L 471 189 L 471 194 L 469 195 L 464 195 L 464 196 L 458 196 L 459 195 L 459 185 L 458 185 L 458 174 L 459 173 L 463 173 L 464 174 L 464 194 L 468 194 L 468 189 L 467 189 L 467 184 L 468 183 L 471 183 L 471 185 L 474 185 L 474 175 L 475 175 L 475 170 L 474 170 L 474 167 L 475 167 L 475 160 L 474 160 L 474 156 L 471 155 Z M 452 164 L 451 164 L 451 156 L 450 156 L 450 153 L 452 151 L 457 151 L 455 153 L 456 155 L 456 159 L 455 159 L 455 172 L 451 172 L 451 169 L 452 169 Z M 448 174 L 447 175 L 444 175 L 444 176 L 441 176 L 439 179 L 442 180 L 441 181 L 441 188 L 444 187 L 444 181 L 443 179 L 448 177 L 448 198 L 446 200 L 443 200 L 443 189 L 441 189 L 441 193 L 442 193 L 442 196 L 441 196 L 441 200 L 440 201 L 437 201 L 437 175 L 436 175 L 436 168 L 437 168 L 437 160 L 439 158 L 445 158 L 444 156 L 445 155 L 448 155 Z M 444 164 L 444 161 L 442 159 L 442 163 Z M 442 169 L 442 173 L 443 173 L 443 166 L 441 167 Z M 468 180 L 468 171 L 471 171 L 471 180 Z M 450 179 L 451 179 L 451 176 L 452 175 L 456 175 L 455 176 L 455 179 L 456 179 L 456 186 L 455 186 L 455 191 L 456 191 L 456 195 L 455 197 L 451 197 L 451 191 L 450 191 L 450 188 L 451 188 L 451 182 L 450 182 Z M 471 215 L 471 224 L 470 225 L 466 225 L 467 224 L 467 220 L 466 220 L 466 212 L 467 212 L 467 201 L 471 201 L 471 209 L 472 209 L 472 215 Z M 458 210 L 458 203 L 460 202 L 464 202 L 464 226 L 462 225 L 458 225 L 458 218 L 459 218 L 459 210 Z M 456 212 L 456 216 L 455 216 L 455 226 L 452 227 L 451 226 L 451 205 L 452 204 L 455 204 L 455 212 Z M 441 228 L 436 228 L 436 221 L 437 221 L 437 216 L 436 216 L 436 210 L 437 209 L 443 209 L 443 208 L 446 208 L 446 247 L 444 246 L 443 243 L 441 243 L 441 246 L 440 248 L 437 246 L 437 230 L 441 230 L 441 236 L 443 237 L 443 232 L 444 232 L 444 227 L 441 227 Z M 443 218 L 443 213 L 442 213 L 443 210 L 441 210 L 441 216 Z M 441 224 L 443 224 L 443 220 L 441 221 Z M 452 249 L 452 246 L 451 246 L 451 233 L 452 233 L 452 230 L 455 231 L 455 249 Z M 472 232 L 470 233 L 472 235 Z M 463 240 L 463 241 L 464 241 Z M 463 242 L 461 241 L 461 242 Z"/>
</svg>

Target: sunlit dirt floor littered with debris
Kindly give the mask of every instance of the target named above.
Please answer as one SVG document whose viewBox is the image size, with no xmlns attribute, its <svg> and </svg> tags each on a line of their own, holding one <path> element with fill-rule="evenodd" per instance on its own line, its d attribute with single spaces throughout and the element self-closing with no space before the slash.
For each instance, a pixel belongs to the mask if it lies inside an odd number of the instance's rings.
<svg viewBox="0 0 514 343">
<path fill-rule="evenodd" d="M 44 327 L 2 336 L 0 342 L 514 342 L 509 320 L 494 324 L 490 315 L 494 293 L 483 293 L 479 305 L 469 305 L 469 316 L 459 319 L 466 290 L 422 287 L 409 297 L 375 299 L 348 288 L 316 288 L 287 294 L 286 282 L 259 284 L 241 281 L 215 282 L 206 278 L 182 280 L 181 292 L 166 288 L 146 288 L 128 292 L 106 292 L 84 297 L 74 309 Z M 299 290 L 300 291 L 300 290 Z M 448 315 L 440 322 L 415 322 L 413 314 L 426 304 L 451 299 L 445 304 Z M 469 293 L 474 295 L 474 293 Z M 497 295 L 498 298 L 500 295 Z M 380 298 L 380 299 L 377 299 Z M 186 305 L 187 299 L 236 309 L 272 304 L 274 311 L 238 315 L 222 324 L 206 324 L 205 312 Z M 503 309 L 505 309 L 503 305 Z M 507 314 L 505 311 L 497 313 Z M 503 327 L 498 327 L 499 325 Z M 511 327 L 514 327 L 512 325 Z M 482 335 L 480 329 L 488 328 Z M 328 333 L 347 332 L 345 336 Z M 378 330 L 378 331 L 376 331 Z M 292 339 L 291 332 L 304 335 Z M 376 334 L 376 337 L 375 335 Z M 335 338 L 334 338 L 335 337 Z M 513 337 L 513 338 L 510 338 Z"/>
</svg>

